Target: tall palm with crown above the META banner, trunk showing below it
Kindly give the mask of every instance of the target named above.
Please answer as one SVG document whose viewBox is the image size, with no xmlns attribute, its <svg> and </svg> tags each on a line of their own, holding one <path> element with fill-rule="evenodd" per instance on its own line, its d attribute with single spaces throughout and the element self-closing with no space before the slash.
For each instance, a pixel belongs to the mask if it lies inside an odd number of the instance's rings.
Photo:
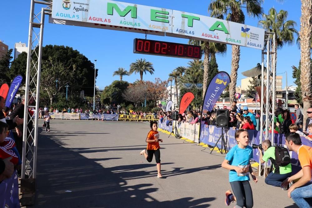
<svg viewBox="0 0 312 208">
<path fill-rule="evenodd" d="M 214 0 L 210 3 L 209 10 L 212 17 L 224 19 L 224 15 L 226 15 L 226 20 L 244 24 L 245 15 L 242 8 L 246 9 L 249 16 L 261 17 L 263 14 L 262 2 L 263 0 Z M 230 99 L 232 101 L 235 100 L 240 53 L 240 47 L 232 45 L 231 83 L 229 86 Z"/>
</svg>

